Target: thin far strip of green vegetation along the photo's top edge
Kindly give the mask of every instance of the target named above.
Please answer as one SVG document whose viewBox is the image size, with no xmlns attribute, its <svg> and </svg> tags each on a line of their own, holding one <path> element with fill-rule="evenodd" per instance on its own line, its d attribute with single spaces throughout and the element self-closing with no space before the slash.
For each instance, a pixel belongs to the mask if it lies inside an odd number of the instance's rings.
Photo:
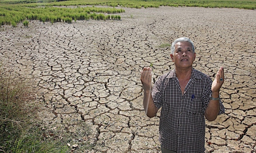
<svg viewBox="0 0 256 153">
<path fill-rule="evenodd" d="M 0 0 L 0 4 L 32 3 L 36 6 L 104 5 L 110 7 L 229 7 L 256 9 L 256 0 Z"/>
</svg>

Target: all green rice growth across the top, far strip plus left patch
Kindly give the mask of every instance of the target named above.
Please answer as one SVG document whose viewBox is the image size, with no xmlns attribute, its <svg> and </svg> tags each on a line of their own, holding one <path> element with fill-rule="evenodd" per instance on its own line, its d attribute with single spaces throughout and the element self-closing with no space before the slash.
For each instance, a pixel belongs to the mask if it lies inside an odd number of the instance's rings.
<svg viewBox="0 0 256 153">
<path fill-rule="evenodd" d="M 101 5 L 104 7 L 80 7 L 86 5 Z M 65 6 L 75 6 L 65 8 Z M 25 20 L 40 20 L 71 23 L 73 20 L 120 20 L 120 15 L 110 15 L 125 12 L 114 7 L 228 7 L 239 9 L 256 9 L 256 0 L 0 0 L 0 26 L 12 25 Z M 60 8 L 64 7 L 64 8 Z M 107 15 L 106 15 L 107 14 Z M 24 26 L 28 26 L 27 23 Z"/>
</svg>

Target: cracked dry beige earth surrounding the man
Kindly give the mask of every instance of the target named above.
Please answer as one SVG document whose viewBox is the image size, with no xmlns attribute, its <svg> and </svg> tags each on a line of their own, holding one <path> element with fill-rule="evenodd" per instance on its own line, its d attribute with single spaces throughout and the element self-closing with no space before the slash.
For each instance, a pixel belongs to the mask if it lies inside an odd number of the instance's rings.
<svg viewBox="0 0 256 153">
<path fill-rule="evenodd" d="M 196 47 L 194 68 L 213 79 L 225 67 L 220 96 L 226 113 L 206 121 L 206 152 L 256 152 L 255 10 L 124 9 L 121 21 L 0 28 L 1 61 L 38 90 L 38 122 L 49 130 L 79 130 L 71 145 L 97 146 L 84 152 L 160 152 L 160 111 L 145 115 L 139 70 L 153 63 L 155 81 L 173 69 L 170 47 L 161 46 L 185 36 Z"/>
</svg>

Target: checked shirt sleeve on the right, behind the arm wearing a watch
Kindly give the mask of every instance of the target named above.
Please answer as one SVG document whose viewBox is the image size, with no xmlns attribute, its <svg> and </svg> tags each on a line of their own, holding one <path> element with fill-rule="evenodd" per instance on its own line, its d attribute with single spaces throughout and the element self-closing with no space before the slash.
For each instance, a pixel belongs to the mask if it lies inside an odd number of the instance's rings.
<svg viewBox="0 0 256 153">
<path fill-rule="evenodd" d="M 212 84 L 212 80 L 211 78 L 209 77 L 209 79 L 207 80 L 206 82 L 206 86 L 205 86 L 205 89 L 204 89 L 204 92 L 203 92 L 203 95 L 202 95 L 202 109 L 203 109 L 203 113 L 205 112 L 205 109 L 206 107 L 208 106 L 209 102 L 210 102 L 210 97 L 211 97 L 211 84 Z M 222 104 L 222 101 L 221 99 L 219 100 L 219 103 L 220 103 L 220 111 L 218 113 L 218 115 L 220 114 L 224 114 L 225 113 L 225 108 Z"/>
</svg>

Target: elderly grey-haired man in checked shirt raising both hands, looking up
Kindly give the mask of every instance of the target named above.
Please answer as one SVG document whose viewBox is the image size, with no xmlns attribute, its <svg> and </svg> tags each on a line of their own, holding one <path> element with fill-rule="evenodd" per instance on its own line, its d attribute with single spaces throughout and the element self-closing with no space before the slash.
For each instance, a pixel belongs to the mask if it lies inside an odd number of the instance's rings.
<svg viewBox="0 0 256 153">
<path fill-rule="evenodd" d="M 144 67 L 141 71 L 147 116 L 154 117 L 162 107 L 159 123 L 162 153 L 204 153 L 205 118 L 213 121 L 218 114 L 225 113 L 219 97 L 224 82 L 223 67 L 212 81 L 192 68 L 195 58 L 193 42 L 182 37 L 171 46 L 175 69 L 160 76 L 153 88 L 151 68 Z"/>
</svg>

